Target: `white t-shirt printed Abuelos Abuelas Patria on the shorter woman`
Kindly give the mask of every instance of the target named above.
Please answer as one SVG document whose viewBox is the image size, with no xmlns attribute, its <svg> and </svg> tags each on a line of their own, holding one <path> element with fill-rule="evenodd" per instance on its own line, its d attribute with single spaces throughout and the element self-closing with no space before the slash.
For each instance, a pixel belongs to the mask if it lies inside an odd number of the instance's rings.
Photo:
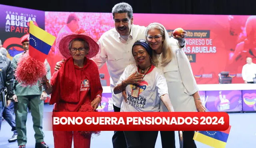
<svg viewBox="0 0 256 148">
<path fill-rule="evenodd" d="M 136 64 L 130 64 L 124 70 L 117 84 L 138 71 Z M 159 112 L 160 96 L 168 94 L 164 74 L 160 69 L 151 66 L 140 83 L 139 97 L 132 97 L 132 85 L 126 86 L 127 103 L 123 100 L 121 112 Z"/>
</svg>

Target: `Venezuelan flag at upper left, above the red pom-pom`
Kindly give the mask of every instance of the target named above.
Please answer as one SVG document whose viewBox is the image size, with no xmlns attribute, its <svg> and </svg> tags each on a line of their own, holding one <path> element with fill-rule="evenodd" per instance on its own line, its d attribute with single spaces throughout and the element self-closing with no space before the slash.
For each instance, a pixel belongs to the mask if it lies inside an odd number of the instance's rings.
<svg viewBox="0 0 256 148">
<path fill-rule="evenodd" d="M 44 62 L 56 37 L 34 25 L 33 21 L 30 21 L 29 33 L 30 57 Z"/>
</svg>

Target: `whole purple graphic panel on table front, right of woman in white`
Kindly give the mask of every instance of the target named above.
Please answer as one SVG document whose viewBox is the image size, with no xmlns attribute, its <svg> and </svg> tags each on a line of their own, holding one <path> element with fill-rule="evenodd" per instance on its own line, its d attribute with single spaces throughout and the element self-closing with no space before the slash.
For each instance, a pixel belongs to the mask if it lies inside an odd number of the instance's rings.
<svg viewBox="0 0 256 148">
<path fill-rule="evenodd" d="M 206 108 L 211 112 L 242 111 L 242 91 L 206 91 Z"/>
</svg>

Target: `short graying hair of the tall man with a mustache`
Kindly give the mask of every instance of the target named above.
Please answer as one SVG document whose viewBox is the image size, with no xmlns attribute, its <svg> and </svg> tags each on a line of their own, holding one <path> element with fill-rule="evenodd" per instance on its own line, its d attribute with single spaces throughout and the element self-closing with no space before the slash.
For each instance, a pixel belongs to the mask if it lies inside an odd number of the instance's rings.
<svg viewBox="0 0 256 148">
<path fill-rule="evenodd" d="M 113 18 L 115 13 L 127 13 L 130 19 L 133 17 L 132 6 L 125 2 L 118 3 L 112 8 Z"/>
</svg>

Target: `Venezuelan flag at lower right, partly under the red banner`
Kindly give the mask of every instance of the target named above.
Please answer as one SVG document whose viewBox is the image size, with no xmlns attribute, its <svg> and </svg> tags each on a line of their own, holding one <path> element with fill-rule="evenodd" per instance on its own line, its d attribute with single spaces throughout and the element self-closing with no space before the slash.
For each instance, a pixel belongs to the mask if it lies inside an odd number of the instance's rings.
<svg viewBox="0 0 256 148">
<path fill-rule="evenodd" d="M 225 148 L 230 128 L 225 131 L 197 131 L 193 139 L 214 148 Z"/>
</svg>

